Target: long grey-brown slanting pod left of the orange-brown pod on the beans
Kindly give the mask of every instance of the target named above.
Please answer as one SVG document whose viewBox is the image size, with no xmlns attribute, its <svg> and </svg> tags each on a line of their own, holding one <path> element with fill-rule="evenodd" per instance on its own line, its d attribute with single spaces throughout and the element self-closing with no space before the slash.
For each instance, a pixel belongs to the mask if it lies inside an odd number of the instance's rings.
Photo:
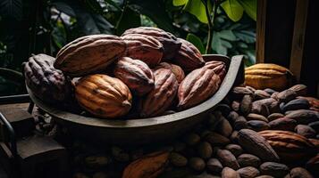
<svg viewBox="0 0 319 178">
<path fill-rule="evenodd" d="M 241 129 L 238 133 L 239 145 L 248 153 L 254 154 L 265 161 L 279 161 L 272 146 L 253 130 Z"/>
</svg>

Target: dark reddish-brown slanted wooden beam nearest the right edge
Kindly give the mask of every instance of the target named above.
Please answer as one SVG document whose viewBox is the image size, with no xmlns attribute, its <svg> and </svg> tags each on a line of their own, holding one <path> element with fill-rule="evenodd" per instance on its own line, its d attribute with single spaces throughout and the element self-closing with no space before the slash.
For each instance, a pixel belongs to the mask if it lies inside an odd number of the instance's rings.
<svg viewBox="0 0 319 178">
<path fill-rule="evenodd" d="M 296 76 L 298 81 L 300 80 L 301 66 L 303 61 L 307 11 L 308 0 L 297 0 L 290 54 L 290 70 Z"/>
</svg>

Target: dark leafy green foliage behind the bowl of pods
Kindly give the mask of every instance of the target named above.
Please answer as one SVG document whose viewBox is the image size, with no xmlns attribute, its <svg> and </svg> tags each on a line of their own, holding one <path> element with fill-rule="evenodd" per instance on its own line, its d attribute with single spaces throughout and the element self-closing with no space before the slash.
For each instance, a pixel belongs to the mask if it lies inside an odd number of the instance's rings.
<svg viewBox="0 0 319 178">
<path fill-rule="evenodd" d="M 0 95 L 25 93 L 21 63 L 52 56 L 79 36 L 152 26 L 201 53 L 245 54 L 255 63 L 256 0 L 1 0 Z"/>
</svg>

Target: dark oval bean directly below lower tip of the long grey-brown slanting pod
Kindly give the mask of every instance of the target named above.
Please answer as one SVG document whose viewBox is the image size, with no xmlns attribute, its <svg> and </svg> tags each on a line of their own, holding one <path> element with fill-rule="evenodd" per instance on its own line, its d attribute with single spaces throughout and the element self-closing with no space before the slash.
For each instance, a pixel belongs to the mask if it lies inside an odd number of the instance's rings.
<svg viewBox="0 0 319 178">
<path fill-rule="evenodd" d="M 290 173 L 288 166 L 275 162 L 264 162 L 259 169 L 261 174 L 272 175 L 273 177 L 283 177 Z"/>
</svg>

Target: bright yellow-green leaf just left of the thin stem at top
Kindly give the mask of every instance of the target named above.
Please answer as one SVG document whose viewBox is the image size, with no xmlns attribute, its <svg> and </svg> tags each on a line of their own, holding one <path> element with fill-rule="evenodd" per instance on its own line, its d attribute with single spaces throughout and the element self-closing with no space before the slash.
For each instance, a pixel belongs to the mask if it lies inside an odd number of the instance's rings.
<svg viewBox="0 0 319 178">
<path fill-rule="evenodd" d="M 208 1 L 209 13 L 212 12 L 212 5 Z M 208 23 L 206 16 L 205 4 L 201 0 L 189 0 L 185 5 L 184 10 L 195 15 L 202 23 Z"/>
</svg>

